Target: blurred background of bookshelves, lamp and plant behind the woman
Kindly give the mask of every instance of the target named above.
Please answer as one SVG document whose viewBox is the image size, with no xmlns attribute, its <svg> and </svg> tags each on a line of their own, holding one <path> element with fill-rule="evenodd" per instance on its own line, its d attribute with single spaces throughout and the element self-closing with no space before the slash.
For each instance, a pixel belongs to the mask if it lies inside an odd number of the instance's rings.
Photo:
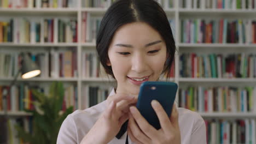
<svg viewBox="0 0 256 144">
<path fill-rule="evenodd" d="M 56 143 L 69 113 L 107 98 L 95 41 L 113 2 L 0 0 L 0 143 Z M 178 83 L 177 105 L 205 119 L 208 143 L 256 143 L 256 0 L 157 2 L 176 40 L 161 80 Z"/>
</svg>

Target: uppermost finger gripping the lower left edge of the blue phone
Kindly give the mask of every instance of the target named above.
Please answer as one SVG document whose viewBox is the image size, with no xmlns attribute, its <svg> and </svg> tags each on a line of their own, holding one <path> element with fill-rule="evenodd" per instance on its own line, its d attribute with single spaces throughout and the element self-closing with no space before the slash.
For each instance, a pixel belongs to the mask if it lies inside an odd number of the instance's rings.
<svg viewBox="0 0 256 144">
<path fill-rule="evenodd" d="M 148 123 L 148 121 L 139 113 L 138 109 L 135 106 L 130 107 L 132 117 L 135 119 L 138 127 L 151 139 L 154 139 L 158 134 L 158 131 Z"/>
</svg>

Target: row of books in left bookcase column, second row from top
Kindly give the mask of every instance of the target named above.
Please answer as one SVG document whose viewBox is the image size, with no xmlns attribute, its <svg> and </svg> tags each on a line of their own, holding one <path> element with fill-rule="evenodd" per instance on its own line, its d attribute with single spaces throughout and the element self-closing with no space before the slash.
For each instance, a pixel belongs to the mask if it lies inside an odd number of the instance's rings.
<svg viewBox="0 0 256 144">
<path fill-rule="evenodd" d="M 0 43 L 76 43 L 77 20 L 28 19 L 17 17 L 0 21 Z"/>
</svg>

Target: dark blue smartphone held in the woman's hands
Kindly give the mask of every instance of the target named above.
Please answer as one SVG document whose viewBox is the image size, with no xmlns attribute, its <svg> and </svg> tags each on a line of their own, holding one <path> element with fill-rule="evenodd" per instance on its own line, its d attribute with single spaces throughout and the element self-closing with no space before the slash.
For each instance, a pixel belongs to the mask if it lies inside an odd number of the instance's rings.
<svg viewBox="0 0 256 144">
<path fill-rule="evenodd" d="M 174 82 L 146 81 L 141 84 L 136 107 L 155 129 L 160 129 L 161 125 L 151 101 L 159 101 L 168 117 L 170 117 L 177 88 L 178 86 Z"/>
</svg>

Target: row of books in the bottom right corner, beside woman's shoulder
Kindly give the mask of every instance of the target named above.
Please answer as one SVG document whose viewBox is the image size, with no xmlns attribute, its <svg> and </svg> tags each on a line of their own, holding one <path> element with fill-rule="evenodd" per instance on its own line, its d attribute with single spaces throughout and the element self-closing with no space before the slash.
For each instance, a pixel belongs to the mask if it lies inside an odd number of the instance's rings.
<svg viewBox="0 0 256 144">
<path fill-rule="evenodd" d="M 205 120 L 207 143 L 255 143 L 255 119 L 210 119 Z"/>
</svg>

